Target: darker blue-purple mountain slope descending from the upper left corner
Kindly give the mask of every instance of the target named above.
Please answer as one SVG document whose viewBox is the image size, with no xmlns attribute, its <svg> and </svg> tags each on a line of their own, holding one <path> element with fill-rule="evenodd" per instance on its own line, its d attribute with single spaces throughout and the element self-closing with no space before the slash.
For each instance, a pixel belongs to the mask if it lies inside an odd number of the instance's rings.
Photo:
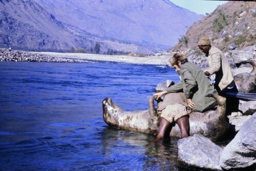
<svg viewBox="0 0 256 171">
<path fill-rule="evenodd" d="M 33 1 L 0 1 L 0 45 L 28 50 L 65 50 L 82 44 L 85 36 L 72 34 L 67 24 L 57 20 Z M 75 28 L 73 28 L 75 30 Z M 77 29 L 78 31 L 78 29 Z M 76 39 L 77 38 L 77 39 Z"/>
</svg>

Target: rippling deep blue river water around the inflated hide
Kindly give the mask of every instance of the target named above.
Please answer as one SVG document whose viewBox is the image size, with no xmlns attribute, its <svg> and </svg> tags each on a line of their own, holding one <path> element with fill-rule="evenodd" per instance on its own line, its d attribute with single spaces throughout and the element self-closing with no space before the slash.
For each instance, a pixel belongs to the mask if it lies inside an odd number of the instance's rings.
<svg viewBox="0 0 256 171">
<path fill-rule="evenodd" d="M 115 62 L 0 62 L 0 170 L 185 170 L 177 138 L 118 130 L 102 100 L 147 110 L 164 66 Z"/>
</svg>

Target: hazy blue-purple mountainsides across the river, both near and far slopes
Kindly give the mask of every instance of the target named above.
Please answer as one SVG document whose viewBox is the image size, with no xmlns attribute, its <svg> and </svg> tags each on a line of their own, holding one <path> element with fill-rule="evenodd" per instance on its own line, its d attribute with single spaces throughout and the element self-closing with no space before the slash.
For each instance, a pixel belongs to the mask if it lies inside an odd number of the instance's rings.
<svg viewBox="0 0 256 171">
<path fill-rule="evenodd" d="M 0 9 L 0 46 L 40 51 L 163 52 L 203 17 L 167 0 L 1 0 Z"/>
</svg>

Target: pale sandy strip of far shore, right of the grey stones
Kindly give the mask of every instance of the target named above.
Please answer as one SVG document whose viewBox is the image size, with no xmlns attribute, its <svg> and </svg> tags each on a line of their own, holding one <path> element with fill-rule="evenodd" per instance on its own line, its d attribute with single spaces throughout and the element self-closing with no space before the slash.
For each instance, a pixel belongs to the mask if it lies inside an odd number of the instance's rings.
<svg viewBox="0 0 256 171">
<path fill-rule="evenodd" d="M 102 60 L 124 63 L 137 63 L 148 65 L 168 65 L 168 56 L 151 56 L 151 57 L 133 57 L 125 55 L 99 55 L 87 53 L 56 53 L 56 52 L 36 52 L 52 57 L 79 59 L 79 60 Z"/>
</svg>

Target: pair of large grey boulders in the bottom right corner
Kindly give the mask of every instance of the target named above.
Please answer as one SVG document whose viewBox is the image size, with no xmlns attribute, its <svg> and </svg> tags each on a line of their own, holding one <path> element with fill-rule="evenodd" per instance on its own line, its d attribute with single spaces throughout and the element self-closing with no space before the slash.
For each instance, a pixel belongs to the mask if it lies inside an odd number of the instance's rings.
<svg viewBox="0 0 256 171">
<path fill-rule="evenodd" d="M 225 146 L 202 135 L 178 141 L 178 161 L 184 167 L 207 170 L 256 170 L 256 113 Z"/>
</svg>

